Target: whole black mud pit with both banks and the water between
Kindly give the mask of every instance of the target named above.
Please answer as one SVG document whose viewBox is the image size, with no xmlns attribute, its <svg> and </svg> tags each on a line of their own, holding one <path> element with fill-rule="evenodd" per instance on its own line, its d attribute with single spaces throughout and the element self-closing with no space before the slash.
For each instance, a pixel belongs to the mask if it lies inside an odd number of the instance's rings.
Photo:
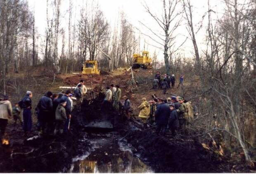
<svg viewBox="0 0 256 174">
<path fill-rule="evenodd" d="M 156 136 L 134 118 L 103 112 L 103 99 L 76 107 L 66 136 L 0 147 L 0 172 L 228 172 L 197 139 Z M 114 129 L 88 131 L 91 120 L 109 121 Z"/>
</svg>

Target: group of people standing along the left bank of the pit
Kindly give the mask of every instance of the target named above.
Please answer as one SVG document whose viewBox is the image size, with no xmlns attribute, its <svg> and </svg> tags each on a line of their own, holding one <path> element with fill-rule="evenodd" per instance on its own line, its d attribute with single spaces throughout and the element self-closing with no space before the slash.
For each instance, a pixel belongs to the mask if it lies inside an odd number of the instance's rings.
<svg viewBox="0 0 256 174">
<path fill-rule="evenodd" d="M 75 98 L 70 90 L 58 94 L 53 94 L 50 91 L 47 92 L 39 99 L 35 108 L 38 120 L 36 125 L 37 131 L 43 135 L 52 133 L 56 135 L 57 133 L 63 134 L 67 132 L 73 109 L 73 99 L 80 104 L 86 92 L 87 89 L 83 80 L 77 84 L 74 90 Z M 23 127 L 24 136 L 28 136 L 33 125 L 31 112 L 32 97 L 33 93 L 27 91 L 26 96 L 18 103 L 15 103 L 13 107 L 7 95 L 0 99 L 0 139 L 5 135 L 8 120 L 12 117 L 14 119 L 14 125 L 16 126 L 18 121 Z M 22 119 L 20 116 L 21 110 L 23 110 Z"/>
</svg>

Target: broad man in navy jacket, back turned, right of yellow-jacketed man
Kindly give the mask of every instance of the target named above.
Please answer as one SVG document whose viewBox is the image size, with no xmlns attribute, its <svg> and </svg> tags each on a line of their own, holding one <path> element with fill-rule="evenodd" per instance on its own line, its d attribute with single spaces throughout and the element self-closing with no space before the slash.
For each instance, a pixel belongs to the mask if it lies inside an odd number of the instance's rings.
<svg viewBox="0 0 256 174">
<path fill-rule="evenodd" d="M 165 135 L 167 124 L 168 124 L 168 118 L 170 116 L 170 108 L 169 106 L 164 103 L 164 99 L 158 99 L 159 105 L 156 107 L 155 112 L 155 119 L 156 119 L 156 134 L 159 134 L 159 132 L 163 132 L 163 135 Z"/>
</svg>

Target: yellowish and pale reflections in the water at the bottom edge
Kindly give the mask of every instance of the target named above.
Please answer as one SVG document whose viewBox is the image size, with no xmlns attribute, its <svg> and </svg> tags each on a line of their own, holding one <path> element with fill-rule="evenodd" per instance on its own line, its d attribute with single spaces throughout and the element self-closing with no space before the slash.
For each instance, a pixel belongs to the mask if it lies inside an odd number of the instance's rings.
<svg viewBox="0 0 256 174">
<path fill-rule="evenodd" d="M 74 173 L 152 173 L 153 171 L 140 159 L 133 157 L 130 152 L 119 155 L 109 154 L 101 156 L 90 155 L 82 161 L 73 163 L 70 172 Z"/>
</svg>

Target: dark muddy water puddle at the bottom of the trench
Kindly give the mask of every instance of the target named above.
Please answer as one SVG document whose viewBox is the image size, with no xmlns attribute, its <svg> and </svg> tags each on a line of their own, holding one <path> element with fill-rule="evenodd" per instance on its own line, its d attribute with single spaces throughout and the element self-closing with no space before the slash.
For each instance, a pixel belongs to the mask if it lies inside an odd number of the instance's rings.
<svg viewBox="0 0 256 174">
<path fill-rule="evenodd" d="M 92 139 L 91 139 L 92 138 Z M 152 169 L 133 155 L 125 142 L 109 136 L 89 138 L 90 153 L 73 159 L 69 172 L 72 173 L 153 173 Z"/>
</svg>

